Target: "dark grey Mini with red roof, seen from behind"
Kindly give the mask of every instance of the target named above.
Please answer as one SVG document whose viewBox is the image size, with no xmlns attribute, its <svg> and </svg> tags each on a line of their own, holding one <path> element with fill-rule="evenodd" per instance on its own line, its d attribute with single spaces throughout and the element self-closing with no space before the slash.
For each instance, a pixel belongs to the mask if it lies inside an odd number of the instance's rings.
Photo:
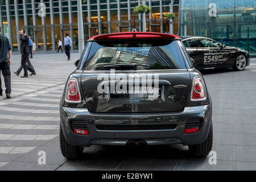
<svg viewBox="0 0 256 182">
<path fill-rule="evenodd" d="M 184 144 L 212 150 L 212 102 L 178 36 L 122 32 L 90 38 L 60 104 L 60 148 Z"/>
</svg>

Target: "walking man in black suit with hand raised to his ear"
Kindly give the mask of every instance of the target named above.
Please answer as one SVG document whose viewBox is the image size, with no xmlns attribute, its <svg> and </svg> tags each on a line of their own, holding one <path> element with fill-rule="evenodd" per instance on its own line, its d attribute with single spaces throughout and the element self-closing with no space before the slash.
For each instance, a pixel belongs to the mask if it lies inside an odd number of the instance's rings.
<svg viewBox="0 0 256 182">
<path fill-rule="evenodd" d="M 29 38 L 25 34 L 25 31 L 23 29 L 19 30 L 19 40 L 21 41 L 20 43 L 20 53 L 22 54 L 22 60 L 21 60 L 21 65 L 19 69 L 14 72 L 17 76 L 19 76 L 19 73 L 22 71 L 22 68 L 24 70 L 24 76 L 22 78 L 28 77 L 28 72 L 31 72 L 32 75 L 36 75 L 35 69 L 33 65 L 30 62 L 29 55 L 30 55 L 30 48 L 28 47 L 29 45 Z"/>
</svg>

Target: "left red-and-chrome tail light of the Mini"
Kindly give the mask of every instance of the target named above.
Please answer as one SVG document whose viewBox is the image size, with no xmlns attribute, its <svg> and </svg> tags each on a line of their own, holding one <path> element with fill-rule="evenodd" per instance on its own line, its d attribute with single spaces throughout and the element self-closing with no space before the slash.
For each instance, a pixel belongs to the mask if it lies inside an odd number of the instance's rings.
<svg viewBox="0 0 256 182">
<path fill-rule="evenodd" d="M 68 81 L 65 100 L 67 102 L 81 102 L 79 86 L 75 78 L 71 78 Z"/>
</svg>

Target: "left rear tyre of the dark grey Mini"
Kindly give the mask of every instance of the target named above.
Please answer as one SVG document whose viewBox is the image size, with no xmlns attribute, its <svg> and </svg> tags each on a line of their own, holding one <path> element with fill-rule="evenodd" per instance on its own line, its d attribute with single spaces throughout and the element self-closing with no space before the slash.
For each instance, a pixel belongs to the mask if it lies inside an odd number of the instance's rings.
<svg viewBox="0 0 256 182">
<path fill-rule="evenodd" d="M 82 156 L 84 147 L 73 146 L 69 144 L 64 137 L 62 127 L 60 125 L 60 150 L 61 154 L 68 159 L 78 159 Z"/>
</svg>

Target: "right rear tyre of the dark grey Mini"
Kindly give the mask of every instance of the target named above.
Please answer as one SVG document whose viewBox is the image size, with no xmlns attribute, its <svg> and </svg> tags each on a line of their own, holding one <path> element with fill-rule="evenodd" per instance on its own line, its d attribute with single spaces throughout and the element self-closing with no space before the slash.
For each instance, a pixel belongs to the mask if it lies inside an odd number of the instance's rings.
<svg viewBox="0 0 256 182">
<path fill-rule="evenodd" d="M 203 143 L 193 144 L 188 146 L 189 152 L 193 157 L 205 157 L 212 150 L 213 143 L 213 128 L 210 124 L 210 130 L 207 139 Z"/>
</svg>

